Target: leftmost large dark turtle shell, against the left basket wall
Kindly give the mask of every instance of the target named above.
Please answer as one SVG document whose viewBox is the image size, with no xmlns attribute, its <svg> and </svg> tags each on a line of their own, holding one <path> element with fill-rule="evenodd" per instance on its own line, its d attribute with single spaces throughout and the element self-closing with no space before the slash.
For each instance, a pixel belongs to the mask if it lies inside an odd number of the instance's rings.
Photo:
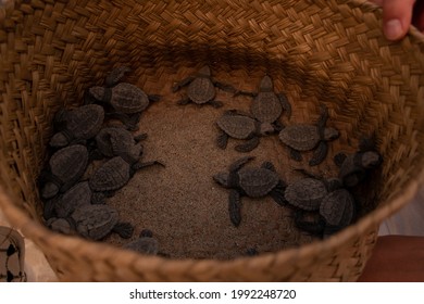
<svg viewBox="0 0 424 304">
<path fill-rule="evenodd" d="M 57 151 L 49 161 L 51 173 L 62 182 L 78 180 L 88 163 L 87 148 L 73 144 Z"/>
</svg>

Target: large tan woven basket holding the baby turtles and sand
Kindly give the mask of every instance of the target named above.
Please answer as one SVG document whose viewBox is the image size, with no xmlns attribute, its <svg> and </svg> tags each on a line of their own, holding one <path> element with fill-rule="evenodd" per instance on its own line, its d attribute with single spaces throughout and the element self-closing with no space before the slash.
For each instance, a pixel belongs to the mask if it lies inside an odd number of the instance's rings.
<svg viewBox="0 0 424 304">
<path fill-rule="evenodd" d="M 424 166 L 423 38 L 411 29 L 400 42 L 384 39 L 382 13 L 373 4 L 362 0 L 11 0 L 4 5 L 0 9 L 0 206 L 10 223 L 42 250 L 61 280 L 354 281 L 370 257 L 379 224 L 417 190 Z M 316 119 L 320 103 L 326 104 L 329 124 L 341 134 L 331 144 L 331 154 L 354 150 L 353 139 L 374 134 L 384 157 L 367 193 L 374 204 L 354 225 L 325 241 L 232 259 L 146 257 L 46 229 L 36 177 L 46 159 L 54 112 L 80 104 L 84 90 L 102 84 L 112 67 L 129 65 L 134 67 L 129 83 L 164 96 L 162 105 L 152 105 L 146 119 L 165 119 L 169 112 L 161 113 L 174 109 L 179 97 L 171 93 L 172 84 L 203 64 L 217 78 L 246 90 L 255 89 L 269 73 L 276 90 L 284 90 L 292 103 L 292 121 Z M 246 99 L 244 104 L 248 103 Z M 197 113 L 214 111 L 185 109 L 187 119 L 180 119 L 182 126 L 191 117 L 203 119 Z M 266 148 L 270 155 L 272 147 Z M 291 161 L 278 153 L 280 170 L 283 162 Z M 217 165 L 226 168 L 237 156 L 230 155 Z M 327 160 L 320 170 L 331 163 Z M 225 215 L 227 192 L 216 189 Z M 253 206 L 245 204 L 246 210 Z M 154 204 L 149 207 L 154 212 Z M 157 212 L 164 211 L 158 206 Z M 194 217 L 187 213 L 178 220 Z M 227 214 L 222 223 L 226 221 Z M 286 226 L 284 236 L 295 233 L 291 225 Z M 249 227 L 232 229 L 258 242 L 262 238 Z M 157 235 L 172 249 L 172 240 L 160 230 Z"/>
</svg>

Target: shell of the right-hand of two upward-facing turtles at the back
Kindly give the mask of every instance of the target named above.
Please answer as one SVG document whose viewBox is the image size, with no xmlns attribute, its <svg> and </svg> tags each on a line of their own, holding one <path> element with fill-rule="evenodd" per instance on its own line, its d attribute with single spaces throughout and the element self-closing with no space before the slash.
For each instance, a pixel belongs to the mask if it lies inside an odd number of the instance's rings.
<svg viewBox="0 0 424 304">
<path fill-rule="evenodd" d="M 274 92 L 259 92 L 254 98 L 250 112 L 262 123 L 274 123 L 283 113 L 283 106 Z"/>
</svg>

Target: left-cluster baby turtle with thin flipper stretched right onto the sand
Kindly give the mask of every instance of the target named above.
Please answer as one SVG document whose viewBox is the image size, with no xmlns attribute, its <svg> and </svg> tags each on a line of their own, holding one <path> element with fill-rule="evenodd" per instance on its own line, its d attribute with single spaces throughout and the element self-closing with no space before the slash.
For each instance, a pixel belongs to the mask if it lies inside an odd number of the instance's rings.
<svg viewBox="0 0 424 304">
<path fill-rule="evenodd" d="M 128 163 L 121 156 L 110 159 L 88 180 L 93 191 L 92 203 L 102 203 L 105 197 L 113 195 L 116 190 L 124 187 L 137 170 L 157 164 L 163 166 L 158 161 Z"/>
</svg>

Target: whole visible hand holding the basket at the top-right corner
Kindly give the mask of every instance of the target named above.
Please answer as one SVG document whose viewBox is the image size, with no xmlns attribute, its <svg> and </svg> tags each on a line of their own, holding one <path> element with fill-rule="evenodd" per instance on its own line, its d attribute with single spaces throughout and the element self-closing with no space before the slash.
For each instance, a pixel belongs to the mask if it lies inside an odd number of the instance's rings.
<svg viewBox="0 0 424 304">
<path fill-rule="evenodd" d="M 424 1 L 370 0 L 383 8 L 383 31 L 387 39 L 399 40 L 407 35 L 411 24 L 424 30 Z"/>
</svg>

